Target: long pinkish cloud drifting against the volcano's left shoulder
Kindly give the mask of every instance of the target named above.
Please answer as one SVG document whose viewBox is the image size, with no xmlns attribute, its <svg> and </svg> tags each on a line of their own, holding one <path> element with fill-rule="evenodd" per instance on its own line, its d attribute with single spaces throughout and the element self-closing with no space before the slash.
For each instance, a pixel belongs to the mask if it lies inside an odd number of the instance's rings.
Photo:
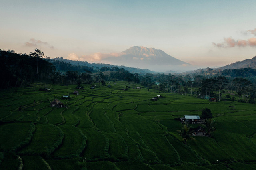
<svg viewBox="0 0 256 170">
<path fill-rule="evenodd" d="M 99 53 L 98 52 L 98 53 L 94 53 L 91 55 L 78 56 L 75 53 L 70 53 L 68 55 L 67 59 L 95 62 L 95 61 L 103 61 L 105 58 L 108 58 L 108 57 L 120 57 L 124 54 L 126 54 L 126 53 Z"/>
</svg>

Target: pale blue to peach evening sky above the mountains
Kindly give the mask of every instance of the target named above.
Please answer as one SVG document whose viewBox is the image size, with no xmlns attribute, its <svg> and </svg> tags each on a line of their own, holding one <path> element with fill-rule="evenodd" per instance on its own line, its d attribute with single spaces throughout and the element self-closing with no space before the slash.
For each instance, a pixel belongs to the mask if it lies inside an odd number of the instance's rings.
<svg viewBox="0 0 256 170">
<path fill-rule="evenodd" d="M 106 63 L 143 46 L 221 67 L 256 55 L 255 9 L 255 0 L 0 0 L 0 49 Z"/>
</svg>

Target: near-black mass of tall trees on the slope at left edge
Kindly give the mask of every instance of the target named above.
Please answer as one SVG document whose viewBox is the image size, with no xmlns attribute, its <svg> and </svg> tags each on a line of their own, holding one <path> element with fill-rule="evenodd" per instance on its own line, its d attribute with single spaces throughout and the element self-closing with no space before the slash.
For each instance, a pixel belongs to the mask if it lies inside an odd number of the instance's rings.
<svg viewBox="0 0 256 170">
<path fill-rule="evenodd" d="M 30 55 L 0 50 L 0 88 L 29 86 L 35 80 L 48 79 L 55 67 L 43 58 L 47 57 L 39 49 Z"/>
</svg>

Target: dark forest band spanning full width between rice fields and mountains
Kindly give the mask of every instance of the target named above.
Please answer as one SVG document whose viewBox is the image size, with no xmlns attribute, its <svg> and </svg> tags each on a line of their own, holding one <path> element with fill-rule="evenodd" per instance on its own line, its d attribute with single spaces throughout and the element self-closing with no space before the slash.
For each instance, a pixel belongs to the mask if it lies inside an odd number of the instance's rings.
<svg viewBox="0 0 256 170">
<path fill-rule="evenodd" d="M 1 89 L 30 86 L 35 81 L 48 81 L 53 84 L 93 84 L 106 85 L 109 81 L 124 80 L 130 83 L 141 83 L 149 89 L 157 89 L 160 93 L 181 93 L 201 98 L 223 97 L 225 90 L 236 92 L 236 95 L 247 98 L 254 103 L 256 70 L 252 68 L 214 70 L 206 69 L 199 72 L 182 74 L 131 73 L 116 66 L 88 67 L 73 65 L 60 60 L 50 60 L 38 49 L 27 54 L 14 51 L 0 51 Z M 233 92 L 230 94 L 233 95 Z M 250 100 L 251 99 L 251 100 Z"/>
</svg>

